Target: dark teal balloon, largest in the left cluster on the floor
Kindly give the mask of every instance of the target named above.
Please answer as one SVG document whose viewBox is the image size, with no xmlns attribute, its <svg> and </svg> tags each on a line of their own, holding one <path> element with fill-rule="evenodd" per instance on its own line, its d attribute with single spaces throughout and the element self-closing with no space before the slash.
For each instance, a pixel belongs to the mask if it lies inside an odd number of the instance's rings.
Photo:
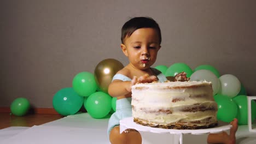
<svg viewBox="0 0 256 144">
<path fill-rule="evenodd" d="M 53 107 L 62 116 L 74 115 L 84 103 L 84 97 L 79 96 L 72 87 L 62 88 L 53 97 Z"/>
</svg>

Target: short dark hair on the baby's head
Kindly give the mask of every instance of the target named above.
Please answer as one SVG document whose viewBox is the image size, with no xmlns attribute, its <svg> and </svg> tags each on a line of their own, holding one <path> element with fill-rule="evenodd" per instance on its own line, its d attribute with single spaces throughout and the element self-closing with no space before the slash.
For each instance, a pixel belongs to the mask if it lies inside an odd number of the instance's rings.
<svg viewBox="0 0 256 144">
<path fill-rule="evenodd" d="M 121 30 L 121 41 L 124 44 L 124 39 L 129 38 L 133 32 L 139 28 L 154 28 L 158 32 L 159 45 L 161 44 L 161 30 L 158 23 L 151 17 L 133 17 L 129 21 L 125 22 Z"/>
</svg>

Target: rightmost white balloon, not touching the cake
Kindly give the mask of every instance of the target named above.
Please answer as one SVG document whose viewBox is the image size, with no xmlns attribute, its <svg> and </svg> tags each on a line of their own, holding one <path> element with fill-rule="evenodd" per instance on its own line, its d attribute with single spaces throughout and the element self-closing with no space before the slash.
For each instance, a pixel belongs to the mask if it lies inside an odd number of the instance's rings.
<svg viewBox="0 0 256 144">
<path fill-rule="evenodd" d="M 229 97 L 235 97 L 241 89 L 241 82 L 236 76 L 226 74 L 219 77 L 220 88 L 219 94 L 228 95 Z"/>
</svg>

